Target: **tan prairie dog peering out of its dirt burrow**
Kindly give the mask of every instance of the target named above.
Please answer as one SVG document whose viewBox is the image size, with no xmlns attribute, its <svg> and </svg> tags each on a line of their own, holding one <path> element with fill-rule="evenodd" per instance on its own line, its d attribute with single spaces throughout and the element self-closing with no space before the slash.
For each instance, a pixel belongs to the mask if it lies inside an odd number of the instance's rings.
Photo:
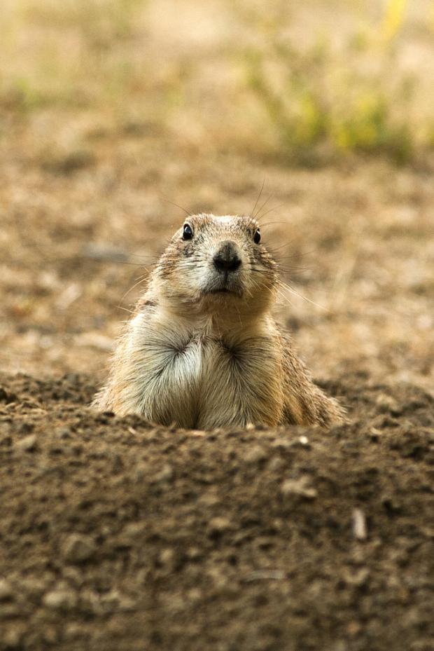
<svg viewBox="0 0 434 651">
<path fill-rule="evenodd" d="M 339 423 L 272 317 L 276 262 L 253 217 L 196 214 L 151 273 L 92 406 L 161 425 Z"/>
</svg>

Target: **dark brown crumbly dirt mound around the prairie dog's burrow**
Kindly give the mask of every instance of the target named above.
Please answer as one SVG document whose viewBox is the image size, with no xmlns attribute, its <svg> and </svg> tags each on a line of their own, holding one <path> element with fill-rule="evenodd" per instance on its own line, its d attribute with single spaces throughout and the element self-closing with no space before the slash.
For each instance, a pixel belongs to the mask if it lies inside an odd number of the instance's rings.
<svg viewBox="0 0 434 651">
<path fill-rule="evenodd" d="M 189 432 L 0 376 L 0 650 L 432 651 L 434 399 L 327 388 L 349 425 Z"/>
</svg>

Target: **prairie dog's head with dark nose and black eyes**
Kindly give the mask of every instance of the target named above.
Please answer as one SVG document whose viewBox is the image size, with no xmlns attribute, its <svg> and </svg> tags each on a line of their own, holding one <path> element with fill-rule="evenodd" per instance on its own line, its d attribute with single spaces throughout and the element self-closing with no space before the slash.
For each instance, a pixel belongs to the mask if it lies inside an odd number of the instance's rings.
<svg viewBox="0 0 434 651">
<path fill-rule="evenodd" d="M 277 272 L 253 217 L 197 214 L 176 231 L 154 280 L 175 308 L 257 314 L 274 300 Z"/>
</svg>

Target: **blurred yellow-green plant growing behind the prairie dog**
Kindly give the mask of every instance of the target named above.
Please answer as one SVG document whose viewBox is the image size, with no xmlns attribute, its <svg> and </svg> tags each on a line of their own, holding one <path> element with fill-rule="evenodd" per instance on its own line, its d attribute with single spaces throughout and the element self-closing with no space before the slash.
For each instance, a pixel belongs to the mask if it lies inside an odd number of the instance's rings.
<svg viewBox="0 0 434 651">
<path fill-rule="evenodd" d="M 325 39 L 297 50 L 279 23 L 244 57 L 246 80 L 272 124 L 279 148 L 312 162 L 359 151 L 405 163 L 414 152 L 412 85 L 390 81 L 405 0 L 390 0 L 377 32 L 351 36 L 339 52 Z M 370 62 L 367 65 L 366 62 Z"/>
</svg>

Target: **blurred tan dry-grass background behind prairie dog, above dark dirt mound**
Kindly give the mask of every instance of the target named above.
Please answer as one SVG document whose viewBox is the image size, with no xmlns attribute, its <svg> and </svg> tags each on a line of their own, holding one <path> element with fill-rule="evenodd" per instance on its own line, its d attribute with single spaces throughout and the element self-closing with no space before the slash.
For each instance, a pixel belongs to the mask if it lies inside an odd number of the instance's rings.
<svg viewBox="0 0 434 651">
<path fill-rule="evenodd" d="M 433 390 L 432 1 L 1 8 L 1 369 L 104 376 L 178 205 L 263 185 L 314 374 Z"/>
</svg>

